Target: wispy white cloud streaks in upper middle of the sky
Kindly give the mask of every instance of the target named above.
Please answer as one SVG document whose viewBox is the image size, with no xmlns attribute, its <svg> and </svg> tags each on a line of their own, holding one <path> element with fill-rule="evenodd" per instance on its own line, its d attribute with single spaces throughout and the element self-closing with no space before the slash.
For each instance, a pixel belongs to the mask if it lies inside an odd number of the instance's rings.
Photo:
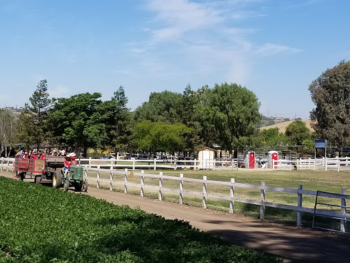
<svg viewBox="0 0 350 263">
<path fill-rule="evenodd" d="M 147 66 L 148 72 L 157 75 L 167 74 L 172 55 L 185 60 L 182 66 L 193 68 L 196 73 L 219 73 L 218 77 L 226 78 L 224 81 L 244 85 L 254 57 L 301 51 L 280 43 L 251 40 L 258 29 L 243 27 L 242 22 L 266 16 L 262 11 L 264 2 L 145 0 L 146 9 L 152 14 L 148 28 L 144 29 L 149 38 L 142 45 L 130 44 L 129 51 L 144 60 L 139 66 Z M 169 50 L 169 55 L 160 53 L 164 49 Z M 185 74 L 183 68 L 178 68 L 178 73 Z"/>
</svg>

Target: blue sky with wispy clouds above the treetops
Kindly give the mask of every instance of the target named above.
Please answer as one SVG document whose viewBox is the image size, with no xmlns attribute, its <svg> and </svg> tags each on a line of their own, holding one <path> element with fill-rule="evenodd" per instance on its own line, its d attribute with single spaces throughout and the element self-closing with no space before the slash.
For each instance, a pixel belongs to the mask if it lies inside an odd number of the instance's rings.
<svg viewBox="0 0 350 263">
<path fill-rule="evenodd" d="M 234 82 L 260 112 L 308 118 L 308 85 L 350 60 L 347 0 L 0 0 L 0 107 L 122 85 L 150 92 Z"/>
</svg>

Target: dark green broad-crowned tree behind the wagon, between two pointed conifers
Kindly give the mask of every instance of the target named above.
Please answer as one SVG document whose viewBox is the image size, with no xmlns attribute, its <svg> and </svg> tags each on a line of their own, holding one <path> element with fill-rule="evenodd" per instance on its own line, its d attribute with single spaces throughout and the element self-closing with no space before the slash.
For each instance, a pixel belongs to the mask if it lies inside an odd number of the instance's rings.
<svg viewBox="0 0 350 263">
<path fill-rule="evenodd" d="M 53 99 L 50 121 L 54 135 L 63 145 L 79 151 L 83 147 L 102 147 L 107 140 L 106 125 L 103 122 L 103 109 L 100 108 L 101 94 L 82 93 L 70 98 Z"/>
</svg>

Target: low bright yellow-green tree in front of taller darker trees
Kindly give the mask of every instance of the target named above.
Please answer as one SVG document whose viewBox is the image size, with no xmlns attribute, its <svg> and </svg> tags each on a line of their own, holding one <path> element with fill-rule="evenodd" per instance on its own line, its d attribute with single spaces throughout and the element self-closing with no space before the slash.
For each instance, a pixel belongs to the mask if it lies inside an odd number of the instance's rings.
<svg viewBox="0 0 350 263">
<path fill-rule="evenodd" d="M 134 127 L 134 138 L 139 151 L 183 151 L 185 136 L 191 129 L 184 124 L 152 123 L 142 121 Z"/>
</svg>

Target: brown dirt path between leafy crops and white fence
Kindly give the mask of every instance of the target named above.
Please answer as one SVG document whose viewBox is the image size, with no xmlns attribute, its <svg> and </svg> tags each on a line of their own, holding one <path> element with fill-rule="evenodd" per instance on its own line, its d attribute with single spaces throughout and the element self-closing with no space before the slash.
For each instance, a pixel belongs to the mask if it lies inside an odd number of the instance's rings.
<svg viewBox="0 0 350 263">
<path fill-rule="evenodd" d="M 0 172 L 0 175 L 12 177 L 12 173 Z M 25 179 L 25 181 L 33 181 L 33 179 Z M 50 183 L 47 182 L 45 185 L 49 186 Z M 189 221 L 193 227 L 217 234 L 234 245 L 280 255 L 286 258 L 286 262 L 350 262 L 350 237 L 346 235 L 286 227 L 244 216 L 124 195 L 92 187 L 88 189 L 87 195 L 105 199 L 117 205 L 139 207 L 146 212 L 158 214 L 167 219 L 178 218 Z"/>
</svg>

